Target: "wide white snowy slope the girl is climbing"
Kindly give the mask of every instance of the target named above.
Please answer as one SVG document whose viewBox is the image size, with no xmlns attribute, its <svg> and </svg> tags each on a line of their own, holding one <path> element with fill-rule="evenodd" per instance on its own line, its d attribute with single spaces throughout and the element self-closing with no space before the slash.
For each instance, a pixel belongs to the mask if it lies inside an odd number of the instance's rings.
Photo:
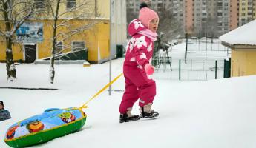
<svg viewBox="0 0 256 148">
<path fill-rule="evenodd" d="M 114 60 L 113 75 L 122 72 L 123 58 Z M 0 89 L 0 100 L 12 119 L 0 122 L 0 147 L 11 124 L 50 107 L 79 107 L 108 82 L 108 63 L 82 67 L 57 65 L 56 83 L 48 84 L 47 65 L 17 66 L 18 80 L 6 81 L 0 64 L 0 87 L 52 87 L 59 90 Z M 256 75 L 216 81 L 157 80 L 154 110 L 157 120 L 119 124 L 119 102 L 124 79 L 88 104 L 85 127 L 80 132 L 56 138 L 35 147 L 177 147 L 255 148 Z M 137 104 L 134 114 L 138 113 Z"/>
</svg>

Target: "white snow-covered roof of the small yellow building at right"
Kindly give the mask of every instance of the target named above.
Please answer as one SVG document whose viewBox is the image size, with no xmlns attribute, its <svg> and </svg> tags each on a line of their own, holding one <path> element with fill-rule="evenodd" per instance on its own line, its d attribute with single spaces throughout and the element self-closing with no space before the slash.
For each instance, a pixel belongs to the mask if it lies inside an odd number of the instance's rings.
<svg viewBox="0 0 256 148">
<path fill-rule="evenodd" d="M 256 45 L 256 20 L 220 36 L 220 41 L 230 45 Z"/>
</svg>

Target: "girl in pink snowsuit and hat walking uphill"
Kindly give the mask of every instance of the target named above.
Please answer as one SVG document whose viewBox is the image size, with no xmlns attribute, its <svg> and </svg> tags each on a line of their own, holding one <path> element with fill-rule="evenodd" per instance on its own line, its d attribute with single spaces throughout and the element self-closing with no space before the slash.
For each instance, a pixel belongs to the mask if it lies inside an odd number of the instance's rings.
<svg viewBox="0 0 256 148">
<path fill-rule="evenodd" d="M 154 118 L 159 114 L 151 109 L 156 84 L 151 79 L 154 67 L 151 65 L 154 41 L 157 40 L 159 17 L 154 10 L 141 4 L 139 19 L 134 19 L 128 26 L 132 36 L 127 46 L 123 73 L 125 76 L 125 93 L 119 106 L 119 122 L 136 121 L 141 118 Z M 132 115 L 131 109 L 140 98 L 140 116 Z"/>
</svg>

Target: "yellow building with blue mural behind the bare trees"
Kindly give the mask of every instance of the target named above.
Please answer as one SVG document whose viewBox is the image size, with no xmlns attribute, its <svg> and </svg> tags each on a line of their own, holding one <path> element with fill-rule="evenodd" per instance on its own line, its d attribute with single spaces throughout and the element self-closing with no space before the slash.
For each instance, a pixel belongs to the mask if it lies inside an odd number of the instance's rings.
<svg viewBox="0 0 256 148">
<path fill-rule="evenodd" d="M 110 21 L 111 0 L 67 0 L 61 3 L 59 14 L 63 13 L 63 15 L 59 16 L 57 24 L 63 22 L 65 24 L 57 29 L 56 34 L 59 36 L 56 39 L 58 43 L 56 53 L 88 50 L 90 63 L 108 61 L 110 53 L 115 57 L 116 44 L 125 44 L 126 41 L 125 7 L 120 7 L 121 5 L 125 6 L 125 1 L 124 4 L 121 3 L 121 1 L 114 2 L 114 16 L 112 17 L 114 21 Z M 74 7 L 77 8 L 73 9 Z M 47 7 L 42 3 L 38 9 L 45 10 Z M 110 36 L 111 25 L 114 28 L 112 38 Z M 13 60 L 33 62 L 36 59 L 50 57 L 53 47 L 52 26 L 53 16 L 51 13 L 34 16 L 33 19 L 25 21 L 16 32 L 18 42 L 13 45 Z M 4 28 L 3 19 L 0 19 L 0 27 Z M 72 34 L 73 30 L 80 29 L 82 30 L 79 33 Z M 67 36 L 70 37 L 66 38 Z M 111 48 L 110 40 L 114 41 L 113 44 L 111 43 Z M 6 49 L 4 38 L 1 38 L 0 41 L 0 49 Z M 5 61 L 5 51 L 0 50 L 0 61 Z M 31 59 L 31 57 L 33 58 Z"/>
</svg>

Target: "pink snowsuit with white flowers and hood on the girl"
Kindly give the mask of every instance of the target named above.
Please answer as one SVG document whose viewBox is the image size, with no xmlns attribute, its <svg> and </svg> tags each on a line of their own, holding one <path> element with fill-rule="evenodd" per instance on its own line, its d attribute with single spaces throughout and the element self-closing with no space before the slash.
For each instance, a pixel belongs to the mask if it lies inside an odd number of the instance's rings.
<svg viewBox="0 0 256 148">
<path fill-rule="evenodd" d="M 131 21 L 128 26 L 128 33 L 132 38 L 128 42 L 123 65 L 125 93 L 119 106 L 121 114 L 131 110 L 139 98 L 139 105 L 143 107 L 152 103 L 156 95 L 156 83 L 144 69 L 145 64 L 151 63 L 154 50 L 154 39 L 145 33 L 147 30 L 138 19 Z"/>
</svg>

